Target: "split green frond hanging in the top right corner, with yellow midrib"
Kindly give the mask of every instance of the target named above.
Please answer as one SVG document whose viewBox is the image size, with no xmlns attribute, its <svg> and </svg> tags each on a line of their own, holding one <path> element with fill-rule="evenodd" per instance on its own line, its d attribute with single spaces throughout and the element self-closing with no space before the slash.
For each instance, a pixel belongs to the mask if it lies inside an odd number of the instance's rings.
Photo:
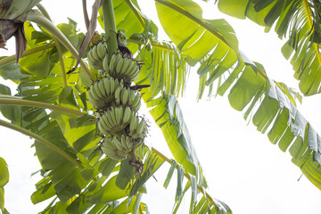
<svg viewBox="0 0 321 214">
<path fill-rule="evenodd" d="M 247 17 L 267 29 L 275 24 L 278 36 L 288 37 L 282 53 L 286 59 L 291 58 L 294 78 L 300 80 L 300 91 L 304 95 L 321 92 L 320 4 L 317 1 L 219 0 L 218 9 L 240 19 Z"/>
</svg>

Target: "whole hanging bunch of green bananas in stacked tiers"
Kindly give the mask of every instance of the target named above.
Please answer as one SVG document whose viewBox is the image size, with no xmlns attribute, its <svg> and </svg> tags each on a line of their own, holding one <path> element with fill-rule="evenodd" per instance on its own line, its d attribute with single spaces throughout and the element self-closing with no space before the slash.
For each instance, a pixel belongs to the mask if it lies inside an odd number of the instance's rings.
<svg viewBox="0 0 321 214">
<path fill-rule="evenodd" d="M 90 65 L 103 74 L 87 93 L 89 102 L 99 110 L 97 127 L 104 136 L 101 148 L 111 159 L 120 161 L 129 156 L 137 161 L 136 149 L 144 142 L 147 125 L 137 115 L 141 95 L 130 85 L 138 77 L 140 66 L 121 53 L 113 53 L 108 62 L 106 50 L 103 43 L 98 43 L 88 53 Z"/>
</svg>

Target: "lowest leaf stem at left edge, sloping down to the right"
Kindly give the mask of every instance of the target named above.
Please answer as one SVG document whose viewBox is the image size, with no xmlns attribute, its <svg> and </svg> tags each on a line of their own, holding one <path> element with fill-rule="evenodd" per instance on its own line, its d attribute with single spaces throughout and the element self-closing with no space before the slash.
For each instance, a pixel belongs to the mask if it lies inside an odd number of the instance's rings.
<svg viewBox="0 0 321 214">
<path fill-rule="evenodd" d="M 84 169 L 84 167 L 78 161 L 74 160 L 68 153 L 64 152 L 61 148 L 59 148 L 55 144 L 50 143 L 45 138 L 43 138 L 41 136 L 38 136 L 35 133 L 32 133 L 32 132 L 30 132 L 29 130 L 27 130 L 25 128 L 21 128 L 21 127 L 18 127 L 17 125 L 14 125 L 12 123 L 6 122 L 3 119 L 0 119 L 0 126 L 3 126 L 5 128 L 11 128 L 12 130 L 18 131 L 23 135 L 30 136 L 30 137 L 36 139 L 41 144 L 45 144 L 47 147 L 52 149 L 54 152 L 59 153 L 60 155 L 62 155 L 62 157 L 64 157 L 65 159 L 67 159 L 71 163 L 75 164 L 79 169 Z"/>
</svg>

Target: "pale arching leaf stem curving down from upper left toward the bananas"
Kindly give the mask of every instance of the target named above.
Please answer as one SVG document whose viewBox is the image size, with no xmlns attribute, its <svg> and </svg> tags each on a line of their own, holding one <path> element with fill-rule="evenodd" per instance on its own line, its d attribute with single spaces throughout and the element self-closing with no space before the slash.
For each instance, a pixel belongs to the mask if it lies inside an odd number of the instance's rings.
<svg viewBox="0 0 321 214">
<path fill-rule="evenodd" d="M 57 29 L 57 27 L 53 25 L 53 22 L 45 18 L 43 14 L 37 11 L 30 11 L 27 13 L 26 19 L 28 21 L 33 21 L 48 30 L 53 35 L 53 37 L 56 37 L 62 43 L 62 45 L 66 47 L 66 49 L 72 54 L 75 59 L 78 58 L 78 51 L 76 50 L 76 48 L 71 45 L 68 38 L 62 34 L 62 31 Z M 91 70 L 83 60 L 80 60 L 80 66 L 83 70 L 85 70 L 85 73 L 89 78 L 94 78 Z"/>
</svg>

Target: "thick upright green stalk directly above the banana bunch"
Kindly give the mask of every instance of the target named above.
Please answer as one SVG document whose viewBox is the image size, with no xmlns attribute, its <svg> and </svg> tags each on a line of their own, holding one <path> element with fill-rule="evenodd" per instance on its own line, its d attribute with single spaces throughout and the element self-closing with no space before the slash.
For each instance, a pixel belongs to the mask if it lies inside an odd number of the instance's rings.
<svg viewBox="0 0 321 214">
<path fill-rule="evenodd" d="M 113 12 L 112 0 L 103 1 L 103 26 L 108 41 L 108 53 L 116 53 L 118 48 L 117 29 L 115 15 Z M 111 61 L 111 55 L 108 54 L 108 61 Z"/>
</svg>

